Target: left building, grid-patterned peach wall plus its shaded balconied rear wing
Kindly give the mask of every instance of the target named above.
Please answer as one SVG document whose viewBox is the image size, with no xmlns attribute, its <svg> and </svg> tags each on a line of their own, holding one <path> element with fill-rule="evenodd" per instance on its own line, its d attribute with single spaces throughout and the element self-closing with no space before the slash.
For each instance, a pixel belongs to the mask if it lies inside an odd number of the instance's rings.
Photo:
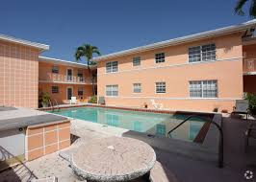
<svg viewBox="0 0 256 182">
<path fill-rule="evenodd" d="M 72 96 L 87 102 L 92 95 L 88 66 L 39 57 L 49 46 L 0 34 L 0 105 L 38 108 L 38 96 L 48 93 L 55 103 Z M 96 68 L 91 67 L 92 75 Z M 96 78 L 94 79 L 96 90 Z"/>
</svg>

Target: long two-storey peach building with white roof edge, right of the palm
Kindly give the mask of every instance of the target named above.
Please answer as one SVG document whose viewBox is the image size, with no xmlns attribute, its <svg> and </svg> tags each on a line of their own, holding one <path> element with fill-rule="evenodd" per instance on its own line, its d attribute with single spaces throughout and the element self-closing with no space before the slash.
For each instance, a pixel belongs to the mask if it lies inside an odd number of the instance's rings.
<svg viewBox="0 0 256 182">
<path fill-rule="evenodd" d="M 256 93 L 256 21 L 96 57 L 107 105 L 231 111 Z"/>
</svg>

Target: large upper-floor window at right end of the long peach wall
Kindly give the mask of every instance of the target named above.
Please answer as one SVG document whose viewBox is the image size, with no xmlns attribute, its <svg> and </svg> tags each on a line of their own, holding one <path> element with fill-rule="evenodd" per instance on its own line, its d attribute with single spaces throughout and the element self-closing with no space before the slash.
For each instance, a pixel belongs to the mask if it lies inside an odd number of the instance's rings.
<svg viewBox="0 0 256 182">
<path fill-rule="evenodd" d="M 207 44 L 189 48 L 189 62 L 216 59 L 216 44 Z"/>
</svg>

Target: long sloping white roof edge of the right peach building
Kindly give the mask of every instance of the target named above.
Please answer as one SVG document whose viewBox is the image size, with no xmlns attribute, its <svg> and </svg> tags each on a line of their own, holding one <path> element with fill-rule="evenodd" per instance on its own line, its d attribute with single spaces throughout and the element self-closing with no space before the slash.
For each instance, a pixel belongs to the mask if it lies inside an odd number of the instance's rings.
<svg viewBox="0 0 256 182">
<path fill-rule="evenodd" d="M 145 52 L 145 51 L 151 51 L 154 49 L 165 48 L 167 46 L 173 46 L 173 45 L 178 45 L 178 44 L 182 44 L 182 43 L 192 42 L 192 41 L 200 40 L 203 38 L 210 38 L 210 37 L 219 36 L 219 35 L 223 35 L 223 34 L 234 34 L 234 33 L 238 33 L 238 32 L 243 32 L 246 29 L 253 27 L 255 25 L 256 25 L 256 19 L 253 19 L 250 21 L 243 22 L 241 24 L 216 29 L 213 31 L 203 32 L 203 33 L 199 33 L 199 34 L 191 34 L 191 35 L 187 35 L 187 36 L 169 39 L 166 41 L 148 44 L 148 45 L 137 47 L 137 48 L 132 48 L 132 49 L 116 52 L 116 53 L 109 54 L 106 56 L 95 57 L 95 58 L 93 58 L 93 60 L 101 61 L 101 60 L 105 60 L 108 58 L 127 56 L 127 55 L 131 55 L 131 54 L 135 54 L 135 53 L 141 53 L 141 52 Z"/>
</svg>

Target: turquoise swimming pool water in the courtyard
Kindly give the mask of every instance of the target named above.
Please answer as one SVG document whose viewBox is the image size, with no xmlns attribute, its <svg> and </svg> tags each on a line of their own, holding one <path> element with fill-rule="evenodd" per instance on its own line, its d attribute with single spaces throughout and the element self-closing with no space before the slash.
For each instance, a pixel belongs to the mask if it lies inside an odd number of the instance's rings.
<svg viewBox="0 0 256 182">
<path fill-rule="evenodd" d="M 102 107 L 73 107 L 52 113 L 84 120 L 85 122 L 112 125 L 160 137 L 167 137 L 167 132 L 170 129 L 188 117 L 188 115 L 183 114 L 160 114 Z M 205 121 L 201 119 L 193 119 L 173 131 L 171 138 L 192 142 L 204 124 Z"/>
</svg>

